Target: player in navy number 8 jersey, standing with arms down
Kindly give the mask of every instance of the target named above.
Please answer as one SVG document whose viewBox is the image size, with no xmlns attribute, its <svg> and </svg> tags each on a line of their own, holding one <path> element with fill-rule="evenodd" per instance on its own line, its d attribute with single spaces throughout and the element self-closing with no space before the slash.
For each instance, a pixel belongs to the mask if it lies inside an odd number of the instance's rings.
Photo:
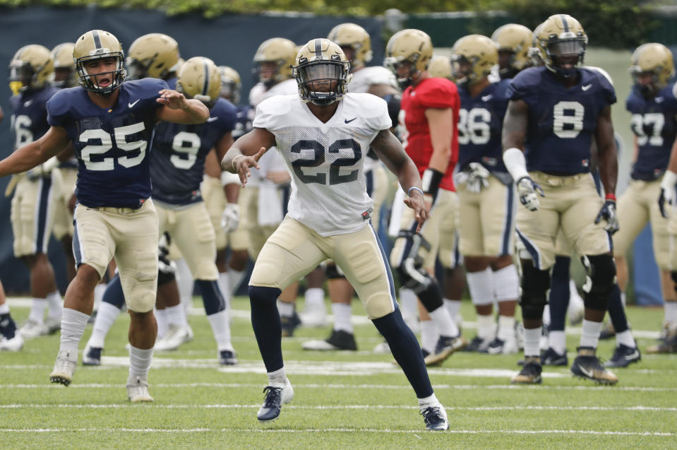
<svg viewBox="0 0 677 450">
<path fill-rule="evenodd" d="M 599 71 L 581 67 L 586 45 L 587 35 L 575 18 L 549 17 L 537 39 L 545 66 L 520 72 L 508 90 L 503 161 L 525 206 L 517 212 L 517 230 L 531 256 L 522 256 L 525 365 L 513 383 L 541 382 L 541 323 L 560 228 L 581 255 L 588 278 L 580 347 L 571 371 L 602 384 L 618 381 L 596 355 L 616 277 L 611 254 L 611 235 L 618 230 L 618 161 L 611 124 L 616 93 Z M 589 173 L 593 138 L 605 199 Z"/>
</svg>

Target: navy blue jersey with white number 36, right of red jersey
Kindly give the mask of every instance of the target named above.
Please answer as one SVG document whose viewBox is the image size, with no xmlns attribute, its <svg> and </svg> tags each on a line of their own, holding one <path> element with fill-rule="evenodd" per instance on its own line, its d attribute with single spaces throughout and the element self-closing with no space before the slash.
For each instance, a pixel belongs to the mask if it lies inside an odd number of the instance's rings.
<svg viewBox="0 0 677 450">
<path fill-rule="evenodd" d="M 479 162 L 492 173 L 506 174 L 501 148 L 503 117 L 508 109 L 510 80 L 488 85 L 477 97 L 458 90 L 461 109 L 458 119 L 458 167 Z"/>
</svg>

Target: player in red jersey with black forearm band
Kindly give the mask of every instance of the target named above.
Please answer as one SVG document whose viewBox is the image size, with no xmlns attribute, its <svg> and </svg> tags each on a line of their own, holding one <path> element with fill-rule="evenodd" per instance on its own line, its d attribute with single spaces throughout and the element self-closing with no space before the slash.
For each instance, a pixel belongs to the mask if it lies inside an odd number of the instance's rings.
<svg viewBox="0 0 677 450">
<path fill-rule="evenodd" d="M 414 290 L 424 306 L 419 312 L 422 347 L 426 364 L 435 365 L 467 345 L 444 307 L 438 281 L 431 275 L 436 258 L 445 268 L 455 261 L 457 198 L 452 172 L 458 158 L 460 100 L 454 83 L 429 75 L 433 45 L 426 33 L 412 29 L 397 32 L 385 52 L 384 64 L 405 89 L 400 110 L 400 125 L 406 130 L 402 142 L 421 174 L 426 204 L 431 208 L 431 218 L 420 233 L 411 211 L 402 211 L 402 229 L 390 261 L 402 285 Z M 426 336 L 433 336 L 433 341 Z"/>
</svg>

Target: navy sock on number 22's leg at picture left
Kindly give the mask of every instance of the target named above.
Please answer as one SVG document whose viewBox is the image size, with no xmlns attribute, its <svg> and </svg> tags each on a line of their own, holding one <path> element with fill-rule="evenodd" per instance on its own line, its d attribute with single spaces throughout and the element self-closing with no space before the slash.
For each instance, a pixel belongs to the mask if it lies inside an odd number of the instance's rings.
<svg viewBox="0 0 677 450">
<path fill-rule="evenodd" d="M 282 325 L 277 311 L 277 297 L 282 290 L 249 286 L 251 326 L 254 329 L 258 350 L 263 357 L 266 372 L 282 369 Z M 419 353 L 420 350 L 419 350 Z"/>
</svg>

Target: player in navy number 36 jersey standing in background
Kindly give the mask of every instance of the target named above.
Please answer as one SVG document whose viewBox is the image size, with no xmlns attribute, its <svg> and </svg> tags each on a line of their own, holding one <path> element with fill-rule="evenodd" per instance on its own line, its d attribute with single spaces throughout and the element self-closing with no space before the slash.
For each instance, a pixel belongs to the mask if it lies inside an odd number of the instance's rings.
<svg viewBox="0 0 677 450">
<path fill-rule="evenodd" d="M 489 81 L 498 64 L 489 37 L 469 35 L 452 49 L 453 78 L 461 100 L 458 123 L 460 251 L 477 312 L 472 351 L 517 353 L 515 307 L 520 277 L 513 264 L 517 196 L 503 165 L 501 127 L 508 107 L 508 80 Z M 493 302 L 498 303 L 498 331 Z"/>
</svg>

